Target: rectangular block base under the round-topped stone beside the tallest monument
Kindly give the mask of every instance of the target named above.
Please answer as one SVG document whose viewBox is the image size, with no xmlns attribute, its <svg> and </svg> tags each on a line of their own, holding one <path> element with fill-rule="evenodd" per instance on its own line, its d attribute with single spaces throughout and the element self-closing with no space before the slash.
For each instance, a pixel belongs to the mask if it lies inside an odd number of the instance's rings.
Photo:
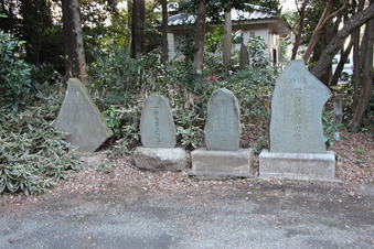
<svg viewBox="0 0 374 249">
<path fill-rule="evenodd" d="M 207 151 L 197 149 L 191 152 L 192 171 L 190 176 L 203 180 L 225 180 L 249 177 L 254 151 Z"/>
</svg>

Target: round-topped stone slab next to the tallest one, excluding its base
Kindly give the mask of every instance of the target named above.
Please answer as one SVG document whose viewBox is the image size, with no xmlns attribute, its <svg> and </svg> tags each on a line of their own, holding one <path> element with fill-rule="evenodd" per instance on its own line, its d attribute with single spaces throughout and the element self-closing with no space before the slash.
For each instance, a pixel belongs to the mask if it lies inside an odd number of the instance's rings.
<svg viewBox="0 0 374 249">
<path fill-rule="evenodd" d="M 213 91 L 207 102 L 204 132 L 207 150 L 237 151 L 239 149 L 241 109 L 232 91 L 224 88 Z"/>
</svg>

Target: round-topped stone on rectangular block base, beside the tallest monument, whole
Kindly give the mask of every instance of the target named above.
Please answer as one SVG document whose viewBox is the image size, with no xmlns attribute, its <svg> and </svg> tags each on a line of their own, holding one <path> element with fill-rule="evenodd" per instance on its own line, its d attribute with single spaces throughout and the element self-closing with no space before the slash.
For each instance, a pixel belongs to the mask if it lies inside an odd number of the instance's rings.
<svg viewBox="0 0 374 249">
<path fill-rule="evenodd" d="M 254 152 L 239 149 L 241 110 L 232 91 L 221 88 L 212 94 L 204 132 L 206 149 L 191 152 L 189 175 L 199 178 L 249 177 Z"/>
</svg>

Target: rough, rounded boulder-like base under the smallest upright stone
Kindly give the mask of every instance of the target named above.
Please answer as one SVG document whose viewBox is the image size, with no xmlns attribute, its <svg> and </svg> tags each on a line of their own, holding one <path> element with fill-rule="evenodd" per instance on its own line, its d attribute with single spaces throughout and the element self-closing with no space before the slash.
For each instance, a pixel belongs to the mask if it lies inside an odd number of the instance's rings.
<svg viewBox="0 0 374 249">
<path fill-rule="evenodd" d="M 135 165 L 141 170 L 181 171 L 186 167 L 189 156 L 182 148 L 143 148 L 133 152 Z"/>
</svg>

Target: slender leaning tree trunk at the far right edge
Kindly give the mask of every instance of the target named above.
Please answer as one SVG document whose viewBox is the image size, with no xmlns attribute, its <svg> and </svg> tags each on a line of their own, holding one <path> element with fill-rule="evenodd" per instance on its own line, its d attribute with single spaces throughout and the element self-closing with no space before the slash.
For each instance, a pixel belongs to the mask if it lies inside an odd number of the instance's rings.
<svg viewBox="0 0 374 249">
<path fill-rule="evenodd" d="M 371 0 L 371 4 L 373 4 L 374 0 Z M 368 106 L 371 96 L 372 96 L 372 87 L 373 87 L 373 36 L 374 36 L 374 20 L 371 20 L 366 24 L 365 29 L 365 62 L 363 68 L 363 86 L 361 91 L 361 97 L 357 104 L 357 107 L 354 111 L 353 119 L 350 123 L 350 128 L 353 129 L 354 132 L 357 132 L 361 129 L 362 121 L 365 116 L 366 108 Z"/>
</svg>

